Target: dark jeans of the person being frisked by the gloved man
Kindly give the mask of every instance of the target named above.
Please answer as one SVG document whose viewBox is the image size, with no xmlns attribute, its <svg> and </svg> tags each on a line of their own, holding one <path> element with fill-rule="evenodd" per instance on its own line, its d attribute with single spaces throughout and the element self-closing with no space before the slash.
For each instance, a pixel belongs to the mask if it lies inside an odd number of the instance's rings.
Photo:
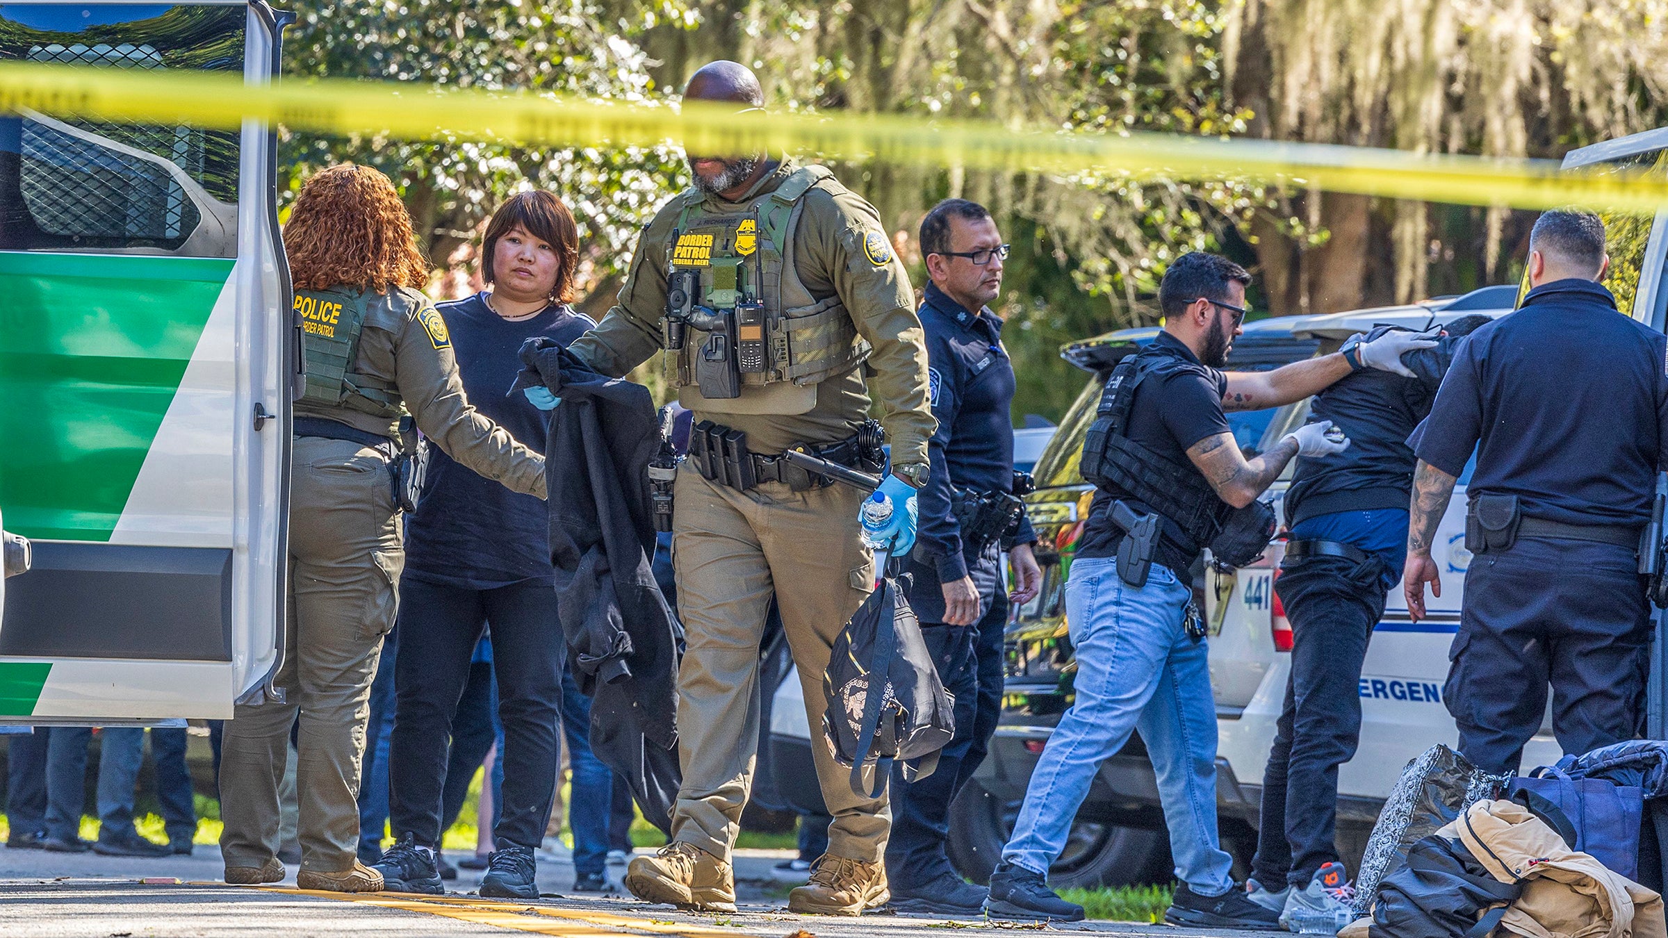
<svg viewBox="0 0 1668 938">
<path fill-rule="evenodd" d="M 1281 569 L 1291 619 L 1291 674 L 1263 769 L 1253 876 L 1268 890 L 1304 888 L 1338 860 L 1338 766 L 1361 741 L 1361 664 L 1384 613 L 1383 561 L 1313 557 Z"/>
</svg>

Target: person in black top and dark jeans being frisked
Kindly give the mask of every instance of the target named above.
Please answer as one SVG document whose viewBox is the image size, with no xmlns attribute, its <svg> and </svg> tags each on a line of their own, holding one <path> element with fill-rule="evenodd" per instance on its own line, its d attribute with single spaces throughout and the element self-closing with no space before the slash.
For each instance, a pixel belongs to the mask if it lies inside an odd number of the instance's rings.
<svg viewBox="0 0 1668 938">
<path fill-rule="evenodd" d="M 1379 325 L 1344 342 L 1354 374 L 1314 396 L 1309 421 L 1333 421 L 1349 449 L 1299 456 L 1286 491 L 1291 539 L 1274 589 L 1291 619 L 1291 673 L 1263 769 L 1263 813 L 1246 895 L 1293 931 L 1334 933 L 1354 921 L 1349 873 L 1333 843 L 1338 766 L 1361 738 L 1361 664 L 1401 576 L 1408 542 L 1413 449 L 1408 434 L 1431 412 L 1454 349 L 1486 315 L 1448 324 L 1436 345 L 1401 356 L 1401 371 L 1366 367 L 1361 345 L 1398 330 Z"/>
</svg>

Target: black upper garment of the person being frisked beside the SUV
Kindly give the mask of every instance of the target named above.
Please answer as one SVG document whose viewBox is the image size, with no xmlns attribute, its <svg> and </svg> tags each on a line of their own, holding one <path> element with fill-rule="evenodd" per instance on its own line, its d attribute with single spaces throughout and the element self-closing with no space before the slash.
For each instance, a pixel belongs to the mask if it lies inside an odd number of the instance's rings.
<svg viewBox="0 0 1668 938">
<path fill-rule="evenodd" d="M 1374 327 L 1366 337 L 1399 329 Z M 1314 396 L 1311 421 L 1331 421 L 1349 437 L 1333 456 L 1299 456 L 1286 492 L 1286 524 L 1336 511 L 1406 509 L 1413 492 L 1408 434 L 1431 412 L 1465 335 L 1443 335 L 1434 349 L 1401 356 L 1414 377 L 1361 369 Z"/>
</svg>

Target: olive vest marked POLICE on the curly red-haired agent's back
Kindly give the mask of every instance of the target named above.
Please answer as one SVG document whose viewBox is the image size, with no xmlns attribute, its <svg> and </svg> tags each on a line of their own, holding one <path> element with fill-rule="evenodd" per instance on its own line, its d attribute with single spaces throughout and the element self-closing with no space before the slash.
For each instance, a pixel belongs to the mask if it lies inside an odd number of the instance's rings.
<svg viewBox="0 0 1668 938">
<path fill-rule="evenodd" d="M 365 307 L 375 299 L 375 294 L 347 290 L 295 290 L 295 319 L 302 325 L 307 362 L 302 401 L 390 421 L 400 416 L 400 394 L 392 381 L 352 371 Z"/>
</svg>

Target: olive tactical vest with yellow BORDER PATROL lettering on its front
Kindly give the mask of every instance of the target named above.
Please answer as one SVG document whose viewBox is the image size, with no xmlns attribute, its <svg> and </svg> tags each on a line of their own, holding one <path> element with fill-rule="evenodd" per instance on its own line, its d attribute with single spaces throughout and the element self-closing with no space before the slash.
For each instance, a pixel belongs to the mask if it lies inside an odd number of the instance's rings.
<svg viewBox="0 0 1668 938">
<path fill-rule="evenodd" d="M 684 190 L 672 244 L 672 270 L 699 270 L 701 305 L 726 312 L 737 302 L 764 304 L 766 369 L 742 372 L 741 397 L 709 399 L 694 382 L 694 356 L 707 334 L 689 330 L 677 356 L 679 401 L 697 411 L 729 414 L 804 414 L 816 406 L 816 384 L 869 357 L 869 344 L 839 295 L 817 300 L 797 274 L 794 234 L 804 195 L 846 189 L 819 165 L 796 170 L 772 192 L 736 212 L 717 214 L 697 189 Z"/>
</svg>

